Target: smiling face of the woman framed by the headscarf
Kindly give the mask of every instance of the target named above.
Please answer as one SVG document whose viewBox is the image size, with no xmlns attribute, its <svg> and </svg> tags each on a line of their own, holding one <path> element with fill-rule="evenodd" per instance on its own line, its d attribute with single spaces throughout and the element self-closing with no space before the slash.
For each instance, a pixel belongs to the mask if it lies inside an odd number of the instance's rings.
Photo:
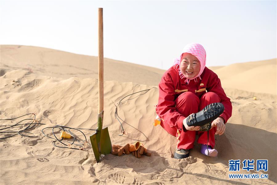
<svg viewBox="0 0 277 185">
<path fill-rule="evenodd" d="M 180 71 L 186 78 L 194 78 L 200 71 L 200 61 L 190 53 L 183 53 L 180 62 Z"/>
</svg>

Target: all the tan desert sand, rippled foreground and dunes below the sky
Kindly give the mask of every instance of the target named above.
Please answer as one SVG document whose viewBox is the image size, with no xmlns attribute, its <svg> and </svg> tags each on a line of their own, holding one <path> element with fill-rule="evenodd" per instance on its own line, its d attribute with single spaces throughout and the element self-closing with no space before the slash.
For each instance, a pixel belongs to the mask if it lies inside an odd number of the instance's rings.
<svg viewBox="0 0 277 185">
<path fill-rule="evenodd" d="M 103 123 L 111 142 L 140 141 L 152 156 L 108 154 L 99 163 L 90 142 L 84 150 L 57 148 L 41 132 L 56 124 L 97 127 L 97 57 L 1 45 L 0 68 L 0 119 L 36 111 L 39 123 L 46 124 L 28 130 L 34 137 L 15 135 L 0 140 L 0 184 L 276 184 L 276 59 L 210 67 L 233 105 L 225 133 L 216 136 L 219 155 L 204 156 L 195 142 L 190 157 L 174 159 L 177 139 L 160 125 L 153 126 L 158 84 L 165 70 L 105 58 Z M 118 116 L 128 132 L 118 136 L 117 103 L 146 89 L 150 90 L 118 105 Z M 2 120 L 0 125 L 16 122 Z M 93 133 L 83 131 L 88 139 Z M 46 133 L 51 135 L 51 130 Z M 8 135 L 1 134 L 1 138 Z M 264 173 L 268 179 L 229 179 L 228 174 L 235 173 L 229 172 L 231 159 L 241 160 L 236 173 Z M 268 171 L 242 170 L 244 159 L 268 159 Z"/>
</svg>

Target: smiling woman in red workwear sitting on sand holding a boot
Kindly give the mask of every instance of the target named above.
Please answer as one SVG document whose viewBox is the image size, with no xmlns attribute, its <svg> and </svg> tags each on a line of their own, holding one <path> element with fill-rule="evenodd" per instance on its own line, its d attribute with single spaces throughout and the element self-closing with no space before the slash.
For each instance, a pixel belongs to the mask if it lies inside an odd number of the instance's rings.
<svg viewBox="0 0 277 185">
<path fill-rule="evenodd" d="M 161 118 L 161 126 L 178 139 L 174 158 L 189 156 L 196 134 L 199 135 L 197 142 L 202 144 L 201 153 L 217 156 L 217 150 L 213 149 L 215 134 L 224 133 L 225 124 L 231 117 L 232 104 L 220 79 L 205 66 L 204 47 L 199 43 L 188 44 L 159 83 L 156 112 Z M 217 113 L 213 113 L 215 109 Z M 204 124 L 208 125 L 207 132 L 193 126 Z"/>
</svg>

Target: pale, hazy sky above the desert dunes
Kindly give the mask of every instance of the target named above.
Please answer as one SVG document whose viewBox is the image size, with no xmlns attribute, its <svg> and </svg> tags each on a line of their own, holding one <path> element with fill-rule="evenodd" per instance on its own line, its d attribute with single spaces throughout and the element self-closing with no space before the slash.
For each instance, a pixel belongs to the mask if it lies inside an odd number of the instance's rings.
<svg viewBox="0 0 277 185">
<path fill-rule="evenodd" d="M 1 1 L 0 44 L 98 55 L 168 69 L 197 42 L 206 66 L 276 58 L 276 1 Z"/>
</svg>

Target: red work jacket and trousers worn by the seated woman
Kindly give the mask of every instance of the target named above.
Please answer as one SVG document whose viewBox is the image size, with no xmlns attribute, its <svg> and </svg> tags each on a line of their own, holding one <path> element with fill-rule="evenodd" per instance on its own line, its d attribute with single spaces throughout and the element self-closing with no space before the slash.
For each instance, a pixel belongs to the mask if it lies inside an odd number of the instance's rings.
<svg viewBox="0 0 277 185">
<path fill-rule="evenodd" d="M 179 65 L 169 68 L 159 83 L 159 103 L 156 113 L 161 117 L 161 126 L 171 135 L 179 140 L 177 148 L 191 149 L 195 141 L 195 135 L 200 144 L 207 144 L 207 132 L 186 130 L 183 127 L 183 119 L 191 113 L 202 110 L 205 106 L 221 102 L 224 112 L 220 115 L 226 124 L 232 114 L 232 104 L 221 87 L 218 76 L 205 67 L 197 77 L 197 82 L 191 80 L 189 84 L 179 76 Z M 207 92 L 206 92 L 207 91 Z M 209 130 L 209 142 L 212 148 L 215 146 L 216 127 Z"/>
</svg>

